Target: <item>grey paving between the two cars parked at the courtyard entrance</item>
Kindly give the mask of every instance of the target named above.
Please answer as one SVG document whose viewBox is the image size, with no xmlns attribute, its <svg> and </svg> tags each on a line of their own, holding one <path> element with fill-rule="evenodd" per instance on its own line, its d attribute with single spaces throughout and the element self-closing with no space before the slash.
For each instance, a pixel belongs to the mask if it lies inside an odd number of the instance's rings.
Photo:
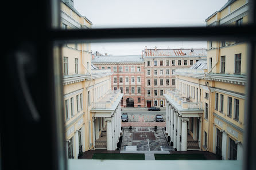
<svg viewBox="0 0 256 170">
<path fill-rule="evenodd" d="M 165 114 L 161 114 L 164 121 L 166 121 Z M 145 114 L 128 114 L 129 122 L 155 122 L 156 114 L 145 115 Z"/>
</svg>

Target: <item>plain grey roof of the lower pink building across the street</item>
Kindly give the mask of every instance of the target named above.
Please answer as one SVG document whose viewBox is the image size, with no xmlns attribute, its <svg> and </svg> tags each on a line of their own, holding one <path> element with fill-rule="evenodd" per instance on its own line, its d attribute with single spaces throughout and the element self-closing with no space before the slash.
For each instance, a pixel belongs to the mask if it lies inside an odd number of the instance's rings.
<svg viewBox="0 0 256 170">
<path fill-rule="evenodd" d="M 136 56 L 95 56 L 92 63 L 103 62 L 144 62 L 140 55 Z"/>
</svg>

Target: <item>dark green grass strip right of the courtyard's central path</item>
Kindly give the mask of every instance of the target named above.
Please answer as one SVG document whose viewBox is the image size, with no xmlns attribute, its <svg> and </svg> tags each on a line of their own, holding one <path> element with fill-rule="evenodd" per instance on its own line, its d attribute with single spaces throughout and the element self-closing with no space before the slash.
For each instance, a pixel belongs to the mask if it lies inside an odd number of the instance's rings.
<svg viewBox="0 0 256 170">
<path fill-rule="evenodd" d="M 206 160 L 203 154 L 155 154 L 156 160 Z"/>
</svg>

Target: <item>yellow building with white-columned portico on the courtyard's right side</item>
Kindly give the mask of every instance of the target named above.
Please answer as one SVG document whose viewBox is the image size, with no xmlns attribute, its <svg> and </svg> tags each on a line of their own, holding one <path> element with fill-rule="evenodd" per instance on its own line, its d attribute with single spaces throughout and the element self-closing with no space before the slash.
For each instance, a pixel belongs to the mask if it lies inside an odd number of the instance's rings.
<svg viewBox="0 0 256 170">
<path fill-rule="evenodd" d="M 222 9 L 205 19 L 205 22 L 207 26 L 240 26 L 247 23 L 248 10 L 249 5 L 246 0 L 228 1 Z M 175 109 L 175 105 L 179 106 L 179 98 L 181 108 L 183 108 L 182 97 L 186 100 L 188 98 L 184 104 L 187 102 L 187 112 L 190 113 L 190 116 L 187 115 L 189 135 L 195 143 L 198 143 L 201 151 L 216 153 L 222 156 L 223 160 L 243 159 L 246 60 L 247 44 L 245 42 L 208 41 L 207 61 L 205 61 L 207 69 L 199 69 L 200 66 L 177 69 L 175 73 L 177 88 L 165 94 L 166 98 L 170 97 L 169 112 L 174 106 L 174 111 L 180 112 L 177 116 L 181 116 L 182 110 L 179 110 L 179 107 Z M 172 94 L 173 100 L 171 100 Z M 177 95 L 177 103 L 173 102 L 175 95 Z M 190 104 L 193 102 L 196 106 Z M 195 107 L 199 110 L 193 110 Z M 203 113 L 199 112 L 200 109 Z M 166 115 L 169 115 L 169 112 L 166 110 Z M 197 117 L 193 116 L 195 112 L 199 114 Z M 171 126 L 172 120 L 177 120 L 172 119 L 171 114 L 169 117 L 169 124 L 167 122 L 166 124 Z M 175 132 L 175 129 L 173 131 Z M 168 136 L 170 136 L 169 133 Z M 170 137 L 172 139 L 172 136 Z"/>
</svg>

